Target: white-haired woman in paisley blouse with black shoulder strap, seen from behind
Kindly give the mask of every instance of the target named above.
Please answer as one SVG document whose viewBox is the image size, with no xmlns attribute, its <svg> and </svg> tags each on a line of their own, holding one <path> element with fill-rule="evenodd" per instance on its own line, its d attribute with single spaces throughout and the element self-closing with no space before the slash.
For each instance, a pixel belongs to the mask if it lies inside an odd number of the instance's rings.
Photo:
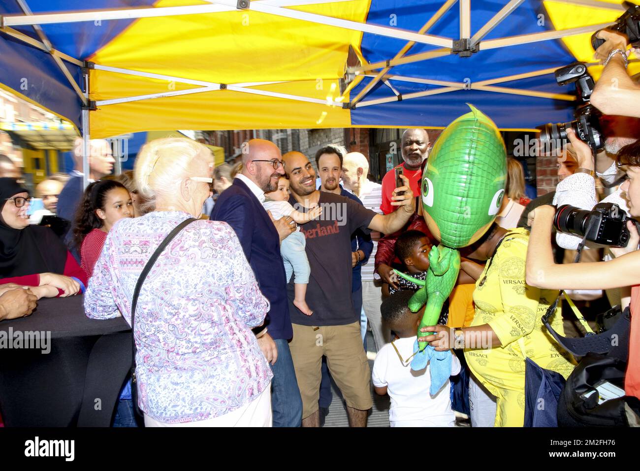
<svg viewBox="0 0 640 471">
<path fill-rule="evenodd" d="M 154 140 L 136 183 L 155 210 L 109 231 L 84 297 L 86 315 L 131 324 L 138 277 L 164 238 L 198 218 L 213 157 L 184 138 Z M 138 404 L 146 426 L 271 426 L 271 368 L 253 335 L 269 310 L 236 233 L 195 220 L 160 253 L 134 311 Z M 118 312 L 120 311 L 120 312 Z"/>
</svg>

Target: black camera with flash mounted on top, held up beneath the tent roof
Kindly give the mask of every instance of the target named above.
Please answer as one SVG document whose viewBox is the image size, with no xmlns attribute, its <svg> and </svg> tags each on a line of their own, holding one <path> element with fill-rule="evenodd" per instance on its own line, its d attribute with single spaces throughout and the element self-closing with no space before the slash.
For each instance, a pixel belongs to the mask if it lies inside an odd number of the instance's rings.
<svg viewBox="0 0 640 471">
<path fill-rule="evenodd" d="M 557 69 L 555 74 L 558 85 L 575 82 L 575 88 L 582 104 L 573 112 L 575 120 L 538 126 L 540 144 L 548 145 L 551 142 L 566 140 L 566 129 L 573 128 L 577 138 L 589 144 L 593 151 L 602 149 L 604 147 L 604 136 L 600 130 L 600 115 L 602 113 L 589 103 L 595 83 L 587 71 L 587 66 L 582 62 L 574 62 Z"/>
</svg>

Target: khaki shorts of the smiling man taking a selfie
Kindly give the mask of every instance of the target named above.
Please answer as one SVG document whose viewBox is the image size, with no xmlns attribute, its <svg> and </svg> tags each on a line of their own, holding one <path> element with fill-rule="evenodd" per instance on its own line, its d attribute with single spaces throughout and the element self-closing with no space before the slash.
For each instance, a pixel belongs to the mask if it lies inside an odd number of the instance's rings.
<svg viewBox="0 0 640 471">
<path fill-rule="evenodd" d="M 359 322 L 324 327 L 293 324 L 289 348 L 302 397 L 302 418 L 318 410 L 323 355 L 347 406 L 363 411 L 371 409 L 371 370 Z"/>
</svg>

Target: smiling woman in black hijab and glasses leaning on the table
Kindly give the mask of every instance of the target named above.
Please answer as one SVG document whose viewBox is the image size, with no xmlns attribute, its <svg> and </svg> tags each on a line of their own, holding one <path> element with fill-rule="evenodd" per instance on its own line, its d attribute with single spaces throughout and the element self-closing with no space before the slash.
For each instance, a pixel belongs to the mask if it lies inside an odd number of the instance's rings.
<svg viewBox="0 0 640 471">
<path fill-rule="evenodd" d="M 29 225 L 29 192 L 0 178 L 0 284 L 33 286 L 41 297 L 84 291 L 86 273 L 49 227 Z"/>
</svg>

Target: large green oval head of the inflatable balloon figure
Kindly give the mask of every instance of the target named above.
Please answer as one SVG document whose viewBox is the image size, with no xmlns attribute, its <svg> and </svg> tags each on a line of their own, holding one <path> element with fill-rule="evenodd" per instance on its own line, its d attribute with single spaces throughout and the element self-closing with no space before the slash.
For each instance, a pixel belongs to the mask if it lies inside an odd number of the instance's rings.
<svg viewBox="0 0 640 471">
<path fill-rule="evenodd" d="M 431 233 L 458 249 L 478 240 L 500 210 L 506 149 L 493 121 L 471 111 L 442 132 L 422 176 L 422 209 Z"/>
</svg>

